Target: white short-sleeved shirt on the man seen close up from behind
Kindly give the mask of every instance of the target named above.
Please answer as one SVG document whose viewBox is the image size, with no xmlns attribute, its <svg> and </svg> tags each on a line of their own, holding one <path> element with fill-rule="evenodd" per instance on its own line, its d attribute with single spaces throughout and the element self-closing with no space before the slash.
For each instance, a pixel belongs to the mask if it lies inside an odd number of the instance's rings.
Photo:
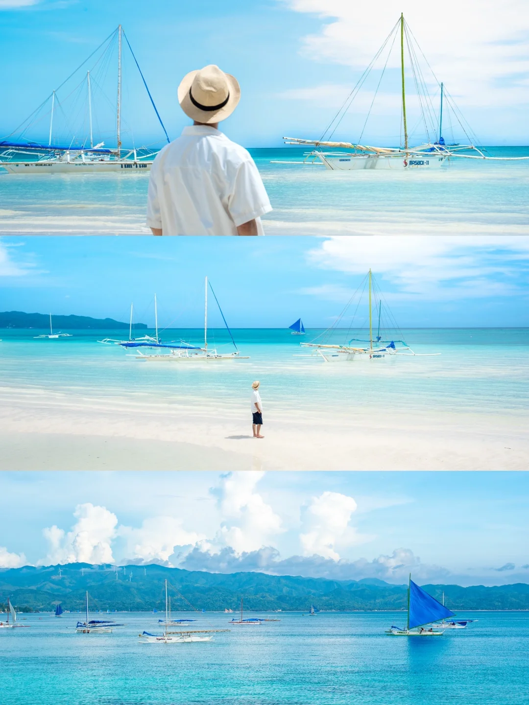
<svg viewBox="0 0 529 705">
<path fill-rule="evenodd" d="M 208 125 L 188 125 L 152 164 L 147 226 L 164 235 L 237 235 L 237 226 L 272 210 L 244 147 Z"/>
</svg>

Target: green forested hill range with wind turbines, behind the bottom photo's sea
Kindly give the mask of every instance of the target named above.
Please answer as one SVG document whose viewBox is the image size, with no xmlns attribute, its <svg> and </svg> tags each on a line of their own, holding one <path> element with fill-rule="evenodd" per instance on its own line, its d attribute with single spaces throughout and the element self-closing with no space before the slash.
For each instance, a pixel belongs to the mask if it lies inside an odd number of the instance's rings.
<svg viewBox="0 0 529 705">
<path fill-rule="evenodd" d="M 175 610 L 189 610 L 190 605 L 206 611 L 237 610 L 241 597 L 248 611 L 304 611 L 311 603 L 320 610 L 406 609 L 406 585 L 390 585 L 382 580 L 326 580 L 257 572 L 224 575 L 160 565 L 116 568 L 87 563 L 0 570 L 0 603 L 5 604 L 9 597 L 19 609 L 51 611 L 61 602 L 65 610 L 78 610 L 84 606 L 87 590 L 92 609 L 161 610 L 166 579 Z M 444 591 L 446 605 L 455 611 L 529 609 L 529 585 L 525 583 L 422 587 L 439 601 Z"/>
</svg>

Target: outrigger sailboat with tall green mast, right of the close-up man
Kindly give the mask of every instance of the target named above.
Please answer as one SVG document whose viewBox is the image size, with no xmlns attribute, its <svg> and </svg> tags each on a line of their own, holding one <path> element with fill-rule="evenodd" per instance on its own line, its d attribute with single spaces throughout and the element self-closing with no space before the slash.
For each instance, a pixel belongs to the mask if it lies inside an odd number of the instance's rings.
<svg viewBox="0 0 529 705">
<path fill-rule="evenodd" d="M 375 102 L 375 97 L 382 82 L 382 76 L 384 75 L 385 68 L 389 61 L 389 56 L 391 50 L 394 47 L 396 37 L 400 32 L 400 59 L 401 59 L 401 93 L 402 93 L 402 122 L 403 127 L 403 141 L 400 147 L 373 147 L 372 145 L 363 145 L 353 142 L 340 142 L 332 141 L 332 136 L 339 127 L 339 124 L 346 115 L 348 109 L 351 107 L 353 100 L 357 96 L 360 88 L 363 87 L 367 75 L 369 75 L 372 68 L 374 68 L 377 59 L 382 56 L 384 49 L 389 45 L 389 52 L 387 53 L 387 59 L 384 64 L 384 69 L 382 75 L 377 85 L 377 90 L 375 91 L 375 96 L 372 99 L 371 108 Z M 413 42 L 411 41 L 413 39 Z M 410 135 L 408 134 L 408 120 L 406 116 L 406 85 L 405 85 L 405 45 L 408 50 L 408 56 L 411 59 L 411 68 L 413 70 L 413 78 L 415 85 L 417 86 L 417 97 L 420 106 L 421 120 L 425 128 L 426 141 L 420 145 L 412 147 L 410 144 Z M 454 157 L 464 158 L 464 159 L 490 159 L 490 160 L 501 160 L 501 161 L 513 161 L 519 159 L 529 159 L 529 157 L 489 157 L 485 154 L 484 150 L 476 146 L 477 137 L 473 135 L 470 126 L 464 121 L 461 112 L 458 110 L 454 100 L 449 96 L 444 87 L 443 82 L 439 82 L 437 77 L 433 74 L 435 83 L 440 87 L 441 98 L 440 98 L 440 111 L 439 118 L 434 116 L 432 109 L 432 99 L 428 94 L 427 85 L 425 79 L 423 78 L 422 71 L 417 62 L 417 50 L 422 54 L 422 50 L 418 47 L 408 24 L 404 20 L 404 16 L 401 17 L 394 25 L 393 29 L 387 36 L 382 44 L 382 47 L 377 51 L 375 57 L 372 59 L 369 66 L 367 66 L 364 73 L 360 76 L 357 84 L 348 95 L 346 100 L 341 105 L 339 111 L 336 113 L 331 123 L 324 130 L 324 133 L 320 137 L 320 140 L 303 140 L 298 137 L 283 137 L 287 145 L 296 145 L 300 147 L 315 147 L 312 152 L 308 152 L 305 155 L 305 160 L 303 164 L 306 165 L 319 165 L 325 166 L 328 169 L 338 170 L 338 171 L 351 171 L 351 169 L 375 169 L 375 168 L 386 168 L 386 169 L 424 169 L 424 168 L 437 168 L 447 164 L 450 159 Z M 424 54 L 422 54 L 424 56 Z M 431 71 L 430 65 L 428 65 Z M 468 145 L 450 144 L 447 145 L 444 137 L 442 135 L 442 119 L 443 119 L 443 104 L 451 108 L 451 114 L 458 122 L 461 130 L 468 139 Z M 360 134 L 360 140 L 365 130 L 367 124 L 367 119 L 370 116 L 370 111 L 367 114 L 365 123 L 363 125 L 362 133 Z M 327 137 L 327 138 L 326 138 Z M 402 135 L 401 135 L 402 137 Z M 437 137 L 437 139 L 436 139 Z M 359 140 L 359 142 L 360 142 Z M 323 148 L 323 149 L 322 149 Z M 324 151 L 324 149 L 334 149 L 340 150 L 338 152 Z M 280 161 L 276 160 L 276 164 L 299 164 L 298 161 Z"/>
</svg>

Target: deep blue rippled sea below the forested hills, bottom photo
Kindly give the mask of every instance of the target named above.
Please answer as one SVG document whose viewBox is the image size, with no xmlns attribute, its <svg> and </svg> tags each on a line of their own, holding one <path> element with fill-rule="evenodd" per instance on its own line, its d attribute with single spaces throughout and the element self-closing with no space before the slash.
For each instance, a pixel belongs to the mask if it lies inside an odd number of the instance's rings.
<svg viewBox="0 0 529 705">
<path fill-rule="evenodd" d="M 402 612 L 282 613 L 278 623 L 174 646 L 139 643 L 142 630 L 158 633 L 159 615 L 114 616 L 126 626 L 109 635 L 75 634 L 77 614 L 27 615 L 30 629 L 2 630 L 2 705 L 528 702 L 527 612 L 461 613 L 478 622 L 425 639 L 384 635 Z M 203 620 L 228 626 L 224 613 Z"/>
</svg>

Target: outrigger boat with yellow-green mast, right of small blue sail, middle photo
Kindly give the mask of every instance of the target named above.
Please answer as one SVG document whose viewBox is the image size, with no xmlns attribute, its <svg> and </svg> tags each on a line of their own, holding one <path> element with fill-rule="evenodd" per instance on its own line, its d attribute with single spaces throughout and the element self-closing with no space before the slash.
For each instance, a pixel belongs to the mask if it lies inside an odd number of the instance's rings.
<svg viewBox="0 0 529 705">
<path fill-rule="evenodd" d="M 360 298 L 367 285 L 368 289 L 368 313 L 369 313 L 369 340 L 362 340 L 360 338 L 351 338 L 351 340 L 346 341 L 342 345 L 326 343 L 325 341 L 330 340 L 332 336 L 336 333 L 339 324 L 346 315 L 351 303 L 360 292 Z M 375 304 L 378 312 L 378 328 L 376 336 L 373 335 L 373 298 L 375 298 Z M 356 306 L 360 306 L 360 301 Z M 387 307 L 384 307 L 385 312 L 387 312 Z M 388 312 L 389 313 L 389 312 Z M 389 316 L 392 319 L 391 314 Z M 354 316 L 353 316 L 354 319 Z M 344 307 L 343 311 L 339 317 L 334 321 L 334 324 L 317 336 L 311 343 L 300 343 L 302 348 L 313 348 L 313 353 L 322 357 L 325 362 L 351 362 L 352 360 L 383 360 L 385 357 L 391 357 L 393 355 L 414 355 L 421 357 L 430 357 L 432 355 L 440 355 L 440 353 L 414 353 L 410 348 L 408 343 L 404 340 L 384 340 L 381 335 L 381 322 L 382 322 L 382 293 L 380 293 L 378 287 L 375 289 L 375 278 L 372 276 L 372 271 L 367 272 L 367 276 L 364 278 L 363 282 L 360 283 L 360 287 L 353 294 L 351 299 Z M 347 334 L 351 331 L 351 324 L 348 326 Z M 399 331 L 398 326 L 394 324 L 392 326 L 399 335 L 402 333 Z M 322 338 L 321 342 L 316 342 L 318 338 Z"/>
</svg>

